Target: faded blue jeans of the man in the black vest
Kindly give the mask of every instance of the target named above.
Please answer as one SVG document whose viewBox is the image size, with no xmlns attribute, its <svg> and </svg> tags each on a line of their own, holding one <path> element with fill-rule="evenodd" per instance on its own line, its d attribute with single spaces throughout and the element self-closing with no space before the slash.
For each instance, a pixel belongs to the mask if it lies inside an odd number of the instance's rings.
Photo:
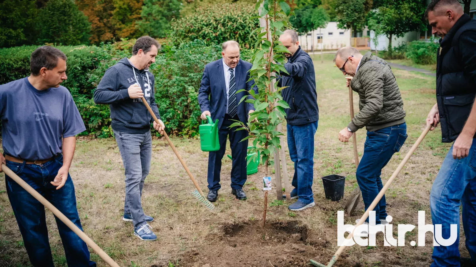
<svg viewBox="0 0 476 267">
<path fill-rule="evenodd" d="M 442 225 L 442 237 L 450 237 L 450 224 L 457 224 L 458 235 L 451 246 L 433 248 L 432 267 L 460 266 L 459 264 L 459 206 L 463 205 L 463 229 L 466 248 L 476 266 L 476 138 L 464 159 L 453 159 L 453 146 L 436 175 L 430 193 L 433 225 Z"/>
</svg>

